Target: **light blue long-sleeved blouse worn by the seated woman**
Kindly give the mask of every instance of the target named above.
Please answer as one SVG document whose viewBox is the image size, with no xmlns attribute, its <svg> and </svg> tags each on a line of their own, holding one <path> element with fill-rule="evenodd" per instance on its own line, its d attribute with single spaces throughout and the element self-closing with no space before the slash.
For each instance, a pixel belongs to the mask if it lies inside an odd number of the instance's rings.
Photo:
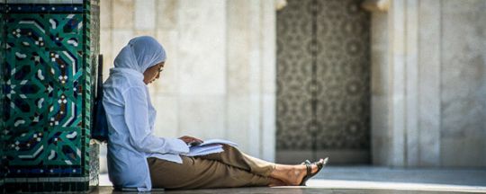
<svg viewBox="0 0 486 194">
<path fill-rule="evenodd" d="M 147 157 L 182 163 L 189 152 L 177 138 L 155 137 L 157 111 L 150 102 L 143 75 L 129 68 L 112 68 L 103 84 L 103 107 L 108 119 L 108 173 L 114 186 L 149 191 Z"/>
</svg>

